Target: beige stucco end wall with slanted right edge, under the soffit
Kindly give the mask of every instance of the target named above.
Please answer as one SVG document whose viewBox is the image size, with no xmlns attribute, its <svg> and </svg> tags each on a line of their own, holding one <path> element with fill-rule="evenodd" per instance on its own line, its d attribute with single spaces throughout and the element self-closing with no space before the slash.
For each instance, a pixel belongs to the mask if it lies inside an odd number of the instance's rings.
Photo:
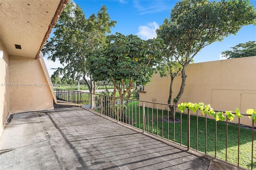
<svg viewBox="0 0 256 170">
<path fill-rule="evenodd" d="M 10 56 L 10 111 L 53 109 L 53 97 L 38 59 Z"/>
</svg>

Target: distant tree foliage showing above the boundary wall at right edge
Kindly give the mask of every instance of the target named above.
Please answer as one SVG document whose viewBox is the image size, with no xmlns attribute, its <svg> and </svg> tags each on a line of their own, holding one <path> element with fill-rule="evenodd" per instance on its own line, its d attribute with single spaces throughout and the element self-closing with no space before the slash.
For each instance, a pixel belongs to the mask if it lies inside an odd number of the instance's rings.
<svg viewBox="0 0 256 170">
<path fill-rule="evenodd" d="M 250 57 L 256 55 L 256 43 L 255 41 L 249 41 L 246 43 L 239 43 L 238 45 L 231 47 L 231 51 L 223 51 L 221 54 L 227 59 Z"/>
</svg>

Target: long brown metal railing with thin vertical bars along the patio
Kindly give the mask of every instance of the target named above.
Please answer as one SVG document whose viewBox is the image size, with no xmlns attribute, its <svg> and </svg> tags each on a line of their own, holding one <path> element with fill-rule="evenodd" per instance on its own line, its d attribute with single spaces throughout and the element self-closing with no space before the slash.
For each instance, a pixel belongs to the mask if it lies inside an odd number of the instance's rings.
<svg viewBox="0 0 256 170">
<path fill-rule="evenodd" d="M 240 119 L 243 118 L 238 118 L 238 125 L 235 125 L 228 119 L 221 122 L 209 119 L 207 115 L 202 117 L 200 111 L 193 116 L 188 110 L 188 114 L 176 112 L 174 123 L 169 121 L 169 107 L 173 106 L 176 109 L 176 105 L 56 89 L 56 97 L 57 95 L 59 100 L 81 102 L 80 104 L 84 104 L 91 111 L 143 132 L 178 143 L 185 146 L 187 150 L 196 150 L 222 159 L 227 163 L 231 162 L 240 167 L 256 169 L 256 147 L 254 147 L 256 136 L 254 135 L 253 121 L 251 128 L 244 129 L 240 125 Z M 94 101 L 91 100 L 92 96 Z M 94 103 L 92 104 L 92 102 Z M 236 135 L 231 131 L 237 132 Z M 250 147 L 244 149 L 244 146 L 248 145 Z"/>
</svg>

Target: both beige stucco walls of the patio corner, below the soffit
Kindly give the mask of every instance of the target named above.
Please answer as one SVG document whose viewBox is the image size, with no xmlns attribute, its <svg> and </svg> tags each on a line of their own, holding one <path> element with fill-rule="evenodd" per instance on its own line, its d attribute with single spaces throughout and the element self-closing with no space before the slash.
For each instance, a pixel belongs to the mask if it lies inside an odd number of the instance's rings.
<svg viewBox="0 0 256 170">
<path fill-rule="evenodd" d="M 54 109 L 53 97 L 39 59 L 8 55 L 0 50 L 0 136 L 10 114 Z M 47 69 L 46 69 L 47 71 Z M 46 73 L 47 74 L 47 73 Z M 50 85 L 51 86 L 51 85 Z"/>
</svg>

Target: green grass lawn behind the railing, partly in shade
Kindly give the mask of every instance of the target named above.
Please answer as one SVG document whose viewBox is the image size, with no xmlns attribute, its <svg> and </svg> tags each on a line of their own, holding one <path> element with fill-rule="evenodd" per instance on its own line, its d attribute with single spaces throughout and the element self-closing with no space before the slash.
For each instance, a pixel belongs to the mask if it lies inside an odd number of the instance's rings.
<svg viewBox="0 0 256 170">
<path fill-rule="evenodd" d="M 120 121 L 134 127 L 143 128 L 142 106 L 138 101 L 127 102 L 127 109 Z M 113 112 L 113 111 L 112 111 Z M 168 112 L 157 109 L 145 108 L 146 131 L 187 146 L 188 116 L 176 113 L 176 118 L 182 117 L 181 123 L 168 123 Z M 201 113 L 199 113 L 201 114 Z M 115 118 L 114 114 L 110 117 Z M 166 121 L 162 121 L 166 119 Z M 157 121 L 158 120 L 158 121 Z M 198 117 L 198 150 L 215 156 L 215 123 L 213 119 L 207 119 L 207 141 L 205 142 L 206 121 L 204 117 Z M 168 133 L 169 129 L 169 133 Z M 182 133 L 181 133 L 182 132 Z M 238 125 L 228 123 L 227 161 L 238 163 Z M 190 116 L 190 148 L 196 149 L 196 116 Z M 240 128 L 240 158 L 239 166 L 251 168 L 252 130 Z M 226 122 L 217 122 L 216 158 L 225 160 L 226 153 Z M 256 134 L 254 134 L 254 163 L 256 169 Z"/>
</svg>

